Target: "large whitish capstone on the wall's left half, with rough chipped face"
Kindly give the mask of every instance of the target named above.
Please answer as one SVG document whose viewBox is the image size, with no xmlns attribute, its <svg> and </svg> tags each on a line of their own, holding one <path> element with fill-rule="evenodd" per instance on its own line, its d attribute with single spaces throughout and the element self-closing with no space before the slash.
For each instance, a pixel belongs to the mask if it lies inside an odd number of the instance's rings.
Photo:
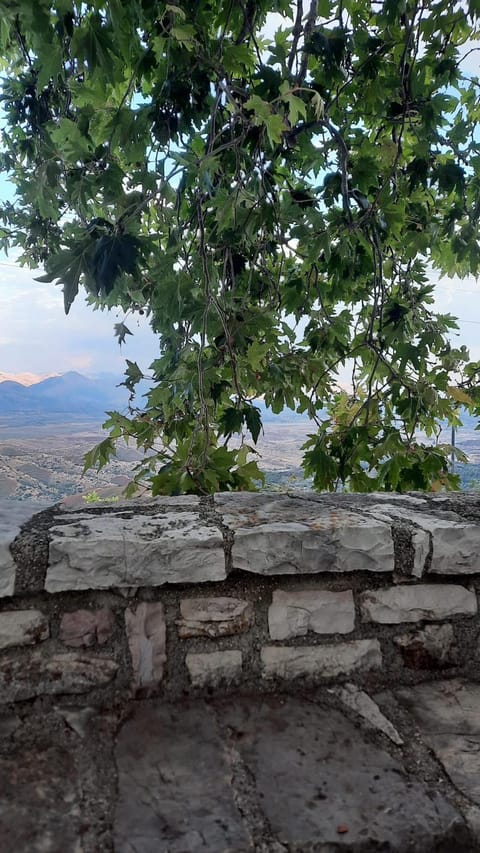
<svg viewBox="0 0 480 853">
<path fill-rule="evenodd" d="M 223 580 L 221 532 L 195 512 L 68 516 L 50 531 L 48 592 Z"/>
</svg>

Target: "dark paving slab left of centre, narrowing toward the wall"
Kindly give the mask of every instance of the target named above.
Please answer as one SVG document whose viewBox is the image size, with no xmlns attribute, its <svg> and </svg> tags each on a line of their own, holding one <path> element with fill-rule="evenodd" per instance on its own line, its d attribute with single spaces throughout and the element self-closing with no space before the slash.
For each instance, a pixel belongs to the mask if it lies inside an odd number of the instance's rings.
<svg viewBox="0 0 480 853">
<path fill-rule="evenodd" d="M 115 756 L 115 853 L 253 850 L 227 750 L 203 703 L 137 702 Z"/>
</svg>

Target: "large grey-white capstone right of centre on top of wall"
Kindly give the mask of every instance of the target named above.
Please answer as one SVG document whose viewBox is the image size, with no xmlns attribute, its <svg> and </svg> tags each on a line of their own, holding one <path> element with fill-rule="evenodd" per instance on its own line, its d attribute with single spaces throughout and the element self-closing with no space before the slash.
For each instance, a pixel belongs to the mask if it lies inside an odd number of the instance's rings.
<svg viewBox="0 0 480 853">
<path fill-rule="evenodd" d="M 233 566 L 261 575 L 392 572 L 390 524 L 342 506 L 265 494 L 215 495 Z"/>
</svg>

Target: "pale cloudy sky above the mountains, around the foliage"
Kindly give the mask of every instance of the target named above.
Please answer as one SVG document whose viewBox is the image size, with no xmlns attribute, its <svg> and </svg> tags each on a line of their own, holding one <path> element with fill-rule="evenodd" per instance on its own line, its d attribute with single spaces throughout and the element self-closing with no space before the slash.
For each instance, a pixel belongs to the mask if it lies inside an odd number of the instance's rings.
<svg viewBox="0 0 480 853">
<path fill-rule="evenodd" d="M 269 22 L 274 30 L 281 20 Z M 271 33 L 269 32 L 269 35 Z M 463 63 L 468 73 L 478 73 L 478 42 L 466 44 L 464 53 L 475 47 Z M 11 197 L 10 185 L 0 176 L 0 199 Z M 124 361 L 137 361 L 142 369 L 158 355 L 158 341 L 145 318 L 127 325 L 134 333 L 120 349 L 113 324 L 123 320 L 121 312 L 93 311 L 79 296 L 68 316 L 63 310 L 61 287 L 36 282 L 31 271 L 15 265 L 12 256 L 0 256 L 0 374 L 33 373 L 45 376 L 78 370 L 87 375 L 124 371 Z M 459 318 L 456 345 L 465 344 L 471 358 L 480 359 L 480 281 L 441 279 L 436 283 L 435 308 Z"/>
</svg>

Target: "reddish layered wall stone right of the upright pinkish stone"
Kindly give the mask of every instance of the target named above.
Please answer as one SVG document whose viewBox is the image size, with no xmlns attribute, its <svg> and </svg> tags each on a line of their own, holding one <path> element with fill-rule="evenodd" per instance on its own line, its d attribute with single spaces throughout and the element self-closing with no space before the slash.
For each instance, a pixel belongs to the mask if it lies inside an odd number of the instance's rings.
<svg viewBox="0 0 480 853">
<path fill-rule="evenodd" d="M 253 625 L 253 606 L 241 598 L 182 598 L 179 637 L 225 637 L 241 634 Z"/>
</svg>

